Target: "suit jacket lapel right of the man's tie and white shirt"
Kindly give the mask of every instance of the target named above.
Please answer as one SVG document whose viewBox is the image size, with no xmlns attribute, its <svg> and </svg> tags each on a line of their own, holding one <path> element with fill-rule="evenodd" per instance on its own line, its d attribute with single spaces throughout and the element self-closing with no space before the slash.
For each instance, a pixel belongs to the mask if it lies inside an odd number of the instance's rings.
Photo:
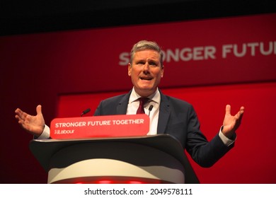
<svg viewBox="0 0 276 198">
<path fill-rule="evenodd" d="M 161 93 L 161 102 L 159 107 L 159 120 L 157 126 L 157 134 L 164 134 L 166 132 L 166 126 L 168 123 L 168 118 L 171 114 L 170 104 L 168 103 L 168 99 L 163 93 Z"/>
</svg>

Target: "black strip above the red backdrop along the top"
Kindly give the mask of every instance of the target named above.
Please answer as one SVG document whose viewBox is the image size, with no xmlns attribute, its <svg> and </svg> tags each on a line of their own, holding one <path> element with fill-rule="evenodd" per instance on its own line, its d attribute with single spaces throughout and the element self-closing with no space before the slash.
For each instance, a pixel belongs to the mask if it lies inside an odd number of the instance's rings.
<svg viewBox="0 0 276 198">
<path fill-rule="evenodd" d="M 0 35 L 242 16 L 275 11 L 275 0 L 4 0 L 0 3 Z"/>
</svg>

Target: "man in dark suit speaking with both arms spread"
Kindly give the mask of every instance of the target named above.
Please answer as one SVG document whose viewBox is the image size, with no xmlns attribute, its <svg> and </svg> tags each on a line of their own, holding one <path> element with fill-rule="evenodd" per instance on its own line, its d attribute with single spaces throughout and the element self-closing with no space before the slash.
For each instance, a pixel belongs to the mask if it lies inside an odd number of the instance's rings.
<svg viewBox="0 0 276 198">
<path fill-rule="evenodd" d="M 202 167 L 212 166 L 234 147 L 236 129 L 241 124 L 244 107 L 236 115 L 231 115 L 231 107 L 226 105 L 224 122 L 219 133 L 211 141 L 207 141 L 200 132 L 200 123 L 192 105 L 163 95 L 159 90 L 163 74 L 163 54 L 159 45 L 146 40 L 137 42 L 132 47 L 128 64 L 132 90 L 103 100 L 94 115 L 131 115 L 136 114 L 139 106 L 142 106 L 142 113 L 150 115 L 148 134 L 170 134 L 180 141 L 196 163 Z M 50 129 L 45 125 L 40 105 L 37 112 L 38 115 L 31 116 L 17 109 L 16 119 L 24 129 L 38 138 L 49 138 Z"/>
</svg>

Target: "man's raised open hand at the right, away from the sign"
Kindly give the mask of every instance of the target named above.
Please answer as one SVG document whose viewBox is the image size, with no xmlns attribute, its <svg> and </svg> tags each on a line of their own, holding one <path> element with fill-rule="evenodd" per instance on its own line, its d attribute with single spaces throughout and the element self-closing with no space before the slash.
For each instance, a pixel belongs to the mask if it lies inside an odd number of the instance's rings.
<svg viewBox="0 0 276 198">
<path fill-rule="evenodd" d="M 236 129 L 240 126 L 243 112 L 244 107 L 241 107 L 236 115 L 231 115 L 231 106 L 226 105 L 222 133 L 229 139 L 233 138 Z"/>
</svg>

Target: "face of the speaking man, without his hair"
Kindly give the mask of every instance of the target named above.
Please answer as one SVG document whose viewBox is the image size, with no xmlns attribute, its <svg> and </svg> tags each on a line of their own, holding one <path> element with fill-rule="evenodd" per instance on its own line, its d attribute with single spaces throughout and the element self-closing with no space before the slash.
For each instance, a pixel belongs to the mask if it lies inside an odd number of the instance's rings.
<svg viewBox="0 0 276 198">
<path fill-rule="evenodd" d="M 163 71 L 160 55 L 154 50 L 135 52 L 132 64 L 128 64 L 128 75 L 132 78 L 134 89 L 143 97 L 156 91 Z"/>
</svg>

